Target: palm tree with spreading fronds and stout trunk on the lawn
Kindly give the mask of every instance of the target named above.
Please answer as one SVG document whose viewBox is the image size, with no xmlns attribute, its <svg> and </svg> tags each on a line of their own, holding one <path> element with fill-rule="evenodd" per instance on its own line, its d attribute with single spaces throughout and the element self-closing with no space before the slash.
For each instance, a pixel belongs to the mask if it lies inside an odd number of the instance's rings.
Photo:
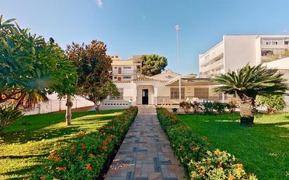
<svg viewBox="0 0 289 180">
<path fill-rule="evenodd" d="M 247 64 L 237 71 L 229 71 L 213 78 L 213 82 L 222 86 L 215 92 L 236 94 L 241 100 L 241 125 L 254 125 L 255 99 L 257 95 L 283 95 L 288 89 L 278 69 L 267 69 L 260 65 L 251 67 Z"/>
</svg>

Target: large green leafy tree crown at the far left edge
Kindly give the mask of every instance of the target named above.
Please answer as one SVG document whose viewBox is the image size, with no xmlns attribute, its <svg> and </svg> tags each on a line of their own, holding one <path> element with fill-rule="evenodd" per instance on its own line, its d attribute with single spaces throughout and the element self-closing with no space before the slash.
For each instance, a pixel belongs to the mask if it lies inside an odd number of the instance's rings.
<svg viewBox="0 0 289 180">
<path fill-rule="evenodd" d="M 76 70 L 65 52 L 53 39 L 46 43 L 14 21 L 0 16 L 0 103 L 33 109 L 48 93 L 73 93 Z"/>
</svg>

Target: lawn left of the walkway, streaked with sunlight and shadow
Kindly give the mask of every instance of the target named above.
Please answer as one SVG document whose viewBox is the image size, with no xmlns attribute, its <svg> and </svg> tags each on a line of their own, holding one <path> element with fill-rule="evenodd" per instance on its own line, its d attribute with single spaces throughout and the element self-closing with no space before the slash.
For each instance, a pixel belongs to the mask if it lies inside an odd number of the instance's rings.
<svg viewBox="0 0 289 180">
<path fill-rule="evenodd" d="M 72 125 L 65 113 L 25 116 L 3 131 L 0 141 L 0 179 L 25 179 L 39 167 L 49 152 L 72 143 L 79 132 L 93 132 L 122 110 L 72 113 Z"/>
</svg>

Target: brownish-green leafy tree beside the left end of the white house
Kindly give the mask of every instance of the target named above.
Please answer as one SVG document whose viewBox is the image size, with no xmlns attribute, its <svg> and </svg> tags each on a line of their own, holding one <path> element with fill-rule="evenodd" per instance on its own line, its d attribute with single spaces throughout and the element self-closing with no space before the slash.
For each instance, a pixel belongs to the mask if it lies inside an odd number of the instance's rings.
<svg viewBox="0 0 289 180">
<path fill-rule="evenodd" d="M 67 58 L 78 67 L 78 95 L 95 104 L 100 113 L 100 103 L 107 96 L 118 96 L 119 91 L 112 83 L 112 58 L 107 55 L 107 46 L 102 41 L 91 41 L 84 46 L 72 43 L 67 46 Z"/>
</svg>

